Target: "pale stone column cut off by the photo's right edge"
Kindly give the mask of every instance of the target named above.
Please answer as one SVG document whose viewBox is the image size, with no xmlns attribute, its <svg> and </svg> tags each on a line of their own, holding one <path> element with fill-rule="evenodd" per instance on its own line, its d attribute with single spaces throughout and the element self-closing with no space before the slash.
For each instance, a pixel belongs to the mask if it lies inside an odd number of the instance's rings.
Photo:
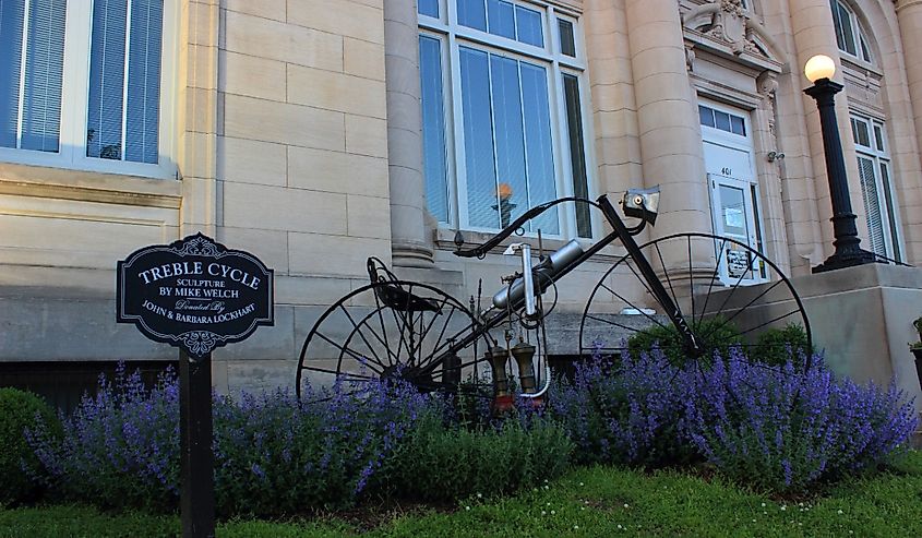
<svg viewBox="0 0 922 538">
<path fill-rule="evenodd" d="M 909 100 L 912 119 L 915 123 L 915 142 L 919 146 L 919 155 L 922 155 L 922 53 L 920 53 L 922 51 L 922 0 L 896 0 L 895 3 L 902 38 L 902 56 L 906 64 L 906 80 L 909 84 Z M 911 178 L 903 177 L 901 179 L 907 183 L 901 189 L 902 202 L 906 204 L 908 201 L 914 200 L 918 203 L 919 200 L 922 200 L 922 181 L 915 178 L 914 184 L 908 184 Z M 909 207 L 905 210 L 903 216 L 908 216 L 910 219 L 915 217 L 915 222 L 903 219 L 903 240 L 910 250 L 910 252 L 907 252 L 909 262 L 918 265 L 922 263 L 922 248 L 918 247 L 922 242 L 922 225 L 918 225 L 918 215 L 922 213 L 922 207 L 913 204 L 907 205 Z"/>
</svg>

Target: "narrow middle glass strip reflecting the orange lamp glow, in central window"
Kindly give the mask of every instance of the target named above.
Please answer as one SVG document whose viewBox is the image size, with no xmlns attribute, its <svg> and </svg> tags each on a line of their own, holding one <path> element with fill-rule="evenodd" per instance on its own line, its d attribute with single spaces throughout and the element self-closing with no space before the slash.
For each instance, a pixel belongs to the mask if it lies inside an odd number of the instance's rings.
<svg viewBox="0 0 922 538">
<path fill-rule="evenodd" d="M 518 62 L 490 55 L 490 83 L 493 95 L 500 225 L 505 228 L 528 208 L 529 199 Z M 531 113 L 534 111 L 529 109 L 529 115 Z"/>
</svg>

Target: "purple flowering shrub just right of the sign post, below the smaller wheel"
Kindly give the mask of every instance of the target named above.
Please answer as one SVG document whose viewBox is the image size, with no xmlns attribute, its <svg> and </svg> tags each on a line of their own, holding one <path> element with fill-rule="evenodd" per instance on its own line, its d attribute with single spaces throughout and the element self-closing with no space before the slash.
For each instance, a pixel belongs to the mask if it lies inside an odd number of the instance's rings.
<svg viewBox="0 0 922 538">
<path fill-rule="evenodd" d="M 289 392 L 216 402 L 215 487 L 224 514 L 283 514 L 352 504 L 408 431 L 440 417 L 436 398 L 398 383 L 358 392 Z"/>
</svg>

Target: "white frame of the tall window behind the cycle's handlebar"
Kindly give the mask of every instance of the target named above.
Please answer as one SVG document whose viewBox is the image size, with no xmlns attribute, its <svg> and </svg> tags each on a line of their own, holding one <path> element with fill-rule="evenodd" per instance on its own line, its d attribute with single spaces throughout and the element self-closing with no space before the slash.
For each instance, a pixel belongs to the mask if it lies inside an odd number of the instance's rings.
<svg viewBox="0 0 922 538">
<path fill-rule="evenodd" d="M 568 12 L 559 11 L 554 5 L 535 3 L 526 0 L 507 0 L 515 5 L 522 5 L 541 13 L 541 27 L 544 47 L 540 48 L 527 43 L 502 37 L 489 32 L 480 31 L 458 23 L 456 0 L 439 0 L 439 17 L 418 13 L 418 35 L 438 39 L 442 61 L 442 108 L 445 115 L 445 175 L 447 182 L 447 223 L 439 220 L 439 227 L 446 229 L 464 229 L 476 232 L 495 234 L 499 228 L 484 228 L 470 224 L 467 212 L 467 160 L 465 158 L 464 138 L 464 103 L 462 98 L 460 48 L 467 47 L 489 55 L 526 61 L 544 68 L 547 74 L 548 106 L 550 118 L 550 136 L 552 159 L 554 165 L 554 188 L 556 196 L 573 195 L 575 190 L 572 156 L 567 130 L 567 109 L 564 94 L 564 74 L 572 75 L 578 82 L 580 103 L 580 123 L 583 128 L 583 152 L 585 155 L 586 177 L 589 198 L 597 195 L 595 174 L 592 169 L 594 135 L 591 133 L 591 118 L 587 104 L 591 103 L 588 84 L 586 83 L 586 53 L 582 20 Z M 488 15 L 489 16 L 489 15 Z M 576 57 L 562 52 L 559 20 L 565 20 L 574 28 L 574 46 Z M 488 27 L 489 29 L 489 27 Z M 558 206 L 560 234 L 542 235 L 549 238 L 578 237 L 576 208 L 573 204 Z M 590 215 L 590 230 L 592 237 L 599 237 L 600 223 L 596 215 Z M 536 236 L 535 232 L 526 232 Z M 582 238 L 590 239 L 590 238 Z"/>
</svg>

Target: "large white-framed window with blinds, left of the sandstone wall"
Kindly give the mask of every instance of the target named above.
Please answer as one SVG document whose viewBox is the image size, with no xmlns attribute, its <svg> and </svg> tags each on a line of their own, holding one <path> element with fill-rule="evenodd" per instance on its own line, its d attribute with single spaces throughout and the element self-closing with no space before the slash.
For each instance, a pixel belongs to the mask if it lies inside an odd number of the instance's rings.
<svg viewBox="0 0 922 538">
<path fill-rule="evenodd" d="M 169 177 L 172 4 L 0 0 L 0 160 Z"/>
</svg>

